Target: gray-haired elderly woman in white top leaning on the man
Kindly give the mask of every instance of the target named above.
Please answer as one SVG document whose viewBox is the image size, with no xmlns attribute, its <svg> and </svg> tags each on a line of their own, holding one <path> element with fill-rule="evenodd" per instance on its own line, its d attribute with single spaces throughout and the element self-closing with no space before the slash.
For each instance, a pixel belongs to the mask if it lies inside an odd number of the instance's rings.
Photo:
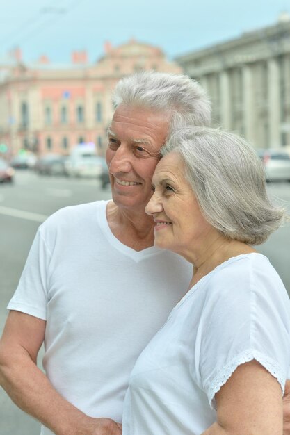
<svg viewBox="0 0 290 435">
<path fill-rule="evenodd" d="M 187 128 L 161 150 L 155 245 L 193 264 L 188 292 L 140 355 L 124 435 L 282 435 L 290 302 L 263 243 L 284 219 L 245 140 Z"/>
</svg>

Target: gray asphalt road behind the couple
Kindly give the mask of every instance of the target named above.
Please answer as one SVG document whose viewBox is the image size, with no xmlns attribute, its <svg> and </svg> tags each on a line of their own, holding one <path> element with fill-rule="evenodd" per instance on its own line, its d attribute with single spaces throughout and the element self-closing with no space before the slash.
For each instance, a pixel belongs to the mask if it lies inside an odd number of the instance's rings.
<svg viewBox="0 0 290 435">
<path fill-rule="evenodd" d="M 268 187 L 290 213 L 290 183 Z M 0 185 L 0 334 L 6 320 L 6 305 L 13 295 L 35 232 L 45 217 L 58 208 L 109 199 L 97 181 L 40 177 L 29 171 L 17 172 L 13 186 Z M 257 249 L 270 258 L 290 295 L 290 222 Z M 40 355 L 41 358 L 41 355 Z M 26 416 L 0 389 L 0 434 L 38 435 L 40 425 Z"/>
</svg>

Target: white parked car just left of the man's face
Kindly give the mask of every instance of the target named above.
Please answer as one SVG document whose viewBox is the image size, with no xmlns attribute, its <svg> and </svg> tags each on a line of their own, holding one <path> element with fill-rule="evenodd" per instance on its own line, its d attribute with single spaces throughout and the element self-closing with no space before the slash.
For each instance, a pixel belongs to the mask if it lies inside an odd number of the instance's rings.
<svg viewBox="0 0 290 435">
<path fill-rule="evenodd" d="M 99 178 L 105 164 L 104 157 L 96 155 L 70 156 L 65 163 L 65 169 L 71 177 Z"/>
</svg>

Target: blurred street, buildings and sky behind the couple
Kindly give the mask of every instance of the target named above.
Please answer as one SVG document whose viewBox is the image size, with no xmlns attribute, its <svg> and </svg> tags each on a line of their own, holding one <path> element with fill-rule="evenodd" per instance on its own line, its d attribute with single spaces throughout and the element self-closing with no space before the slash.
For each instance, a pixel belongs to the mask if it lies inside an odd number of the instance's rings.
<svg viewBox="0 0 290 435">
<path fill-rule="evenodd" d="M 0 334 L 38 225 L 111 197 L 111 92 L 131 72 L 198 80 L 213 126 L 252 143 L 271 197 L 290 213 L 290 3 L 196 3 L 0 0 Z M 288 222 L 257 249 L 290 294 L 289 246 Z M 39 427 L 0 389 L 1 435 Z"/>
</svg>

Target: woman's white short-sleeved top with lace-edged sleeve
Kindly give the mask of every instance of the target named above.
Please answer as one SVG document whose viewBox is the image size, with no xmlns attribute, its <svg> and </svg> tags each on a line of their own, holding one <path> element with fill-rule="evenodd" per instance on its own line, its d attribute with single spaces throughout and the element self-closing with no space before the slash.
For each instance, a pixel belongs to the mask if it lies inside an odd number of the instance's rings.
<svg viewBox="0 0 290 435">
<path fill-rule="evenodd" d="M 124 402 L 123 435 L 199 435 L 214 395 L 256 359 L 280 382 L 290 366 L 290 301 L 268 258 L 231 258 L 200 279 L 140 354 Z"/>
</svg>

